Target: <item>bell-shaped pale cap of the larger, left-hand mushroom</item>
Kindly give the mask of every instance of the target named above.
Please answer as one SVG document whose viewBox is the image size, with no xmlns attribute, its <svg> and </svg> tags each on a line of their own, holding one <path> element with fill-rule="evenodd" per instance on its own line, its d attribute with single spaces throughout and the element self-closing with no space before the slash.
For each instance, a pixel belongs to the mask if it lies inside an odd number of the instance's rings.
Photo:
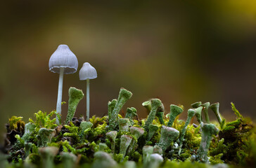
<svg viewBox="0 0 256 168">
<path fill-rule="evenodd" d="M 49 60 L 49 70 L 54 73 L 60 73 L 60 68 L 64 68 L 65 74 L 75 73 L 77 71 L 78 61 L 75 54 L 68 48 L 68 45 L 61 44 Z"/>
</svg>

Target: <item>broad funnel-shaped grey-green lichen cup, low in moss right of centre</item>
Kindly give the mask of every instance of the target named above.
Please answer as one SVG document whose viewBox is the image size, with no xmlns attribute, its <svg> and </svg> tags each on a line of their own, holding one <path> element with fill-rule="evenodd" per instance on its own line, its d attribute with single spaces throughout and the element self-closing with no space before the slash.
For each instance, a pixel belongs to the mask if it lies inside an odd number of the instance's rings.
<svg viewBox="0 0 256 168">
<path fill-rule="evenodd" d="M 175 141 L 178 137 L 179 137 L 178 130 L 172 127 L 162 126 L 161 137 L 157 145 L 162 148 L 163 152 L 165 152 L 165 150 L 167 150 L 167 148 L 170 146 L 172 141 Z"/>
</svg>

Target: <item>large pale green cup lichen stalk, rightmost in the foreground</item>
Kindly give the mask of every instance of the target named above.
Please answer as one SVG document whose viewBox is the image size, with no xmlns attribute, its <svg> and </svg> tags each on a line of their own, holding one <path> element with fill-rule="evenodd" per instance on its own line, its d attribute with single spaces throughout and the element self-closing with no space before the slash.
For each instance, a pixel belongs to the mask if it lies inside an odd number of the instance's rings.
<svg viewBox="0 0 256 168">
<path fill-rule="evenodd" d="M 198 153 L 197 158 L 201 162 L 208 162 L 207 153 L 210 147 L 210 142 L 212 141 L 212 135 L 217 134 L 218 132 L 219 130 L 215 125 L 203 123 L 202 139 L 201 139 L 200 147 L 197 152 Z"/>
</svg>

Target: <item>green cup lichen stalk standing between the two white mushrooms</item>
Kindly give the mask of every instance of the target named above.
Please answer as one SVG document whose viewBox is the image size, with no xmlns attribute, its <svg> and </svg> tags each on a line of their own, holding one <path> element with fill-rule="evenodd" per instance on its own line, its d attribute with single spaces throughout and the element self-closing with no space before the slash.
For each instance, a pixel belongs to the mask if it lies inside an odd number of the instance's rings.
<svg viewBox="0 0 256 168">
<path fill-rule="evenodd" d="M 79 104 L 80 100 L 84 98 L 84 93 L 82 90 L 79 90 L 75 87 L 70 87 L 68 90 L 68 95 L 70 99 L 68 99 L 68 116 L 65 120 L 65 124 L 70 123 L 72 118 L 75 115 L 75 111 L 77 110 L 77 105 Z"/>
</svg>

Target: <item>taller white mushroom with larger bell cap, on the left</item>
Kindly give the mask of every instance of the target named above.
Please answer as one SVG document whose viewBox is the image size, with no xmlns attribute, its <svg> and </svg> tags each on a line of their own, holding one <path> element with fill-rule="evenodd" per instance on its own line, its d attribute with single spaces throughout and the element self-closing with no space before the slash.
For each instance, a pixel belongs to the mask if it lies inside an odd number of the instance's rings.
<svg viewBox="0 0 256 168">
<path fill-rule="evenodd" d="M 75 54 L 68 48 L 68 45 L 58 45 L 58 48 L 49 59 L 49 70 L 54 73 L 60 73 L 58 80 L 58 99 L 56 112 L 61 115 L 61 101 L 63 90 L 63 74 L 75 73 L 77 71 L 78 61 Z M 61 118 L 56 116 L 56 124 L 60 125 Z"/>
</svg>

